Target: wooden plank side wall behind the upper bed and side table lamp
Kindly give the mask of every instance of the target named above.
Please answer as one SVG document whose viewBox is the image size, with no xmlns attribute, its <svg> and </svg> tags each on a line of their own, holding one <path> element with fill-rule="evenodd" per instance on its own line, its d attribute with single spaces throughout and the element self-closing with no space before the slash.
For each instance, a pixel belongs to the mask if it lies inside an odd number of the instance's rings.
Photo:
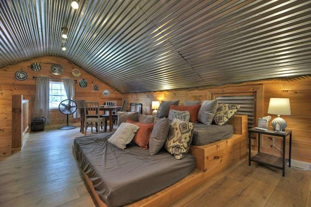
<svg viewBox="0 0 311 207">
<path fill-rule="evenodd" d="M 258 94 L 258 118 L 268 115 L 272 116 L 272 119 L 276 118 L 276 115 L 267 114 L 270 98 L 290 98 L 292 115 L 281 117 L 287 121 L 287 129 L 293 130 L 292 158 L 311 163 L 311 78 L 307 76 L 307 78 L 295 78 L 290 81 L 265 80 L 262 82 L 259 81 L 258 83 L 263 86 L 263 92 L 261 91 Z M 249 86 L 249 88 L 247 86 Z M 182 105 L 186 100 L 210 100 L 210 91 L 216 91 L 217 88 L 219 87 L 202 90 L 175 90 L 123 94 L 123 99 L 127 103 L 127 108 L 129 108 L 129 103 L 131 102 L 142 103 L 143 114 L 151 115 L 153 111 L 153 109 L 151 109 L 152 101 L 180 100 L 179 104 Z M 254 91 L 254 88 L 257 88 L 257 86 L 254 86 L 254 83 L 246 83 L 242 87 L 228 86 L 223 87 L 218 91 L 223 91 L 224 93 L 237 93 L 248 92 L 250 90 Z M 271 121 L 269 121 L 269 124 L 271 127 Z M 273 144 L 272 141 L 272 137 L 264 137 L 261 141 L 263 147 L 261 148 L 261 151 L 281 156 L 276 148 L 271 147 Z M 253 140 L 252 145 L 254 150 L 257 149 L 257 143 L 257 140 Z M 275 137 L 276 146 L 281 148 L 281 143 L 281 139 Z M 288 152 L 288 143 L 286 152 Z"/>
</svg>

